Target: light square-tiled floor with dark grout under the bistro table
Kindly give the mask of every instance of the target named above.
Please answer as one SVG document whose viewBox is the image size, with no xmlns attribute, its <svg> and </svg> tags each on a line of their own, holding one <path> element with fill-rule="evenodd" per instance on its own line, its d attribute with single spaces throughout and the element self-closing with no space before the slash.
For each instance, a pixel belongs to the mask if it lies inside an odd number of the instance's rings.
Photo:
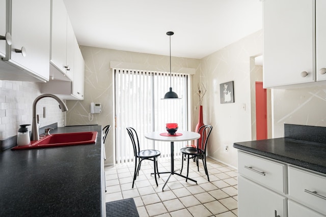
<svg viewBox="0 0 326 217">
<path fill-rule="evenodd" d="M 171 160 L 158 159 L 158 170 L 170 171 Z M 153 175 L 153 162 L 143 161 L 139 176 L 131 188 L 134 163 L 107 166 L 106 202 L 134 198 L 139 215 L 143 216 L 237 216 L 237 170 L 207 158 L 209 180 L 202 162 L 199 172 L 195 162 L 190 162 L 189 177 L 197 180 L 185 181 L 173 175 L 162 191 L 169 174 L 160 174 L 156 187 Z M 175 157 L 175 169 L 181 168 L 181 158 Z M 186 174 L 184 162 L 182 174 Z M 180 172 L 180 171 L 178 171 Z"/>
</svg>

